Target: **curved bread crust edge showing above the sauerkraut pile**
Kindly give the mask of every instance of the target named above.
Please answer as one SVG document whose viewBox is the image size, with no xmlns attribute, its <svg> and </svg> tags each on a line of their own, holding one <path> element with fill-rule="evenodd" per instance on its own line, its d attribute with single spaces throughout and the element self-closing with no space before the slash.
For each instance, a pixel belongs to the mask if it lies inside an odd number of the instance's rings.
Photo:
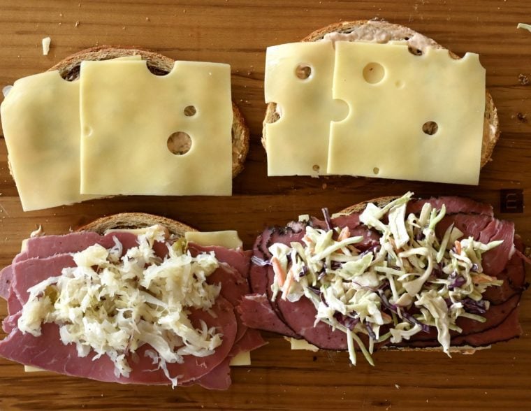
<svg viewBox="0 0 531 411">
<path fill-rule="evenodd" d="M 103 235 L 106 231 L 112 229 L 141 229 L 156 224 L 166 227 L 170 231 L 170 234 L 177 237 L 184 237 L 184 233 L 187 231 L 197 231 L 191 226 L 175 221 L 174 219 L 147 214 L 145 212 L 120 212 L 119 214 L 101 217 L 85 226 L 81 226 L 76 231 L 94 231 Z"/>
</svg>

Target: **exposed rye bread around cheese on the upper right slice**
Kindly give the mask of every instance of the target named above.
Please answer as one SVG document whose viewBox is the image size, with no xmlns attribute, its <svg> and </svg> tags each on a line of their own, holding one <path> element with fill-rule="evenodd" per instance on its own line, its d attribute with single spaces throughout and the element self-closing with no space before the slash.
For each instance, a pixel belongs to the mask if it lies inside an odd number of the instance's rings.
<svg viewBox="0 0 531 411">
<path fill-rule="evenodd" d="M 414 46 L 412 40 L 421 39 L 427 47 L 443 48 L 442 45 L 435 42 L 431 38 L 425 37 L 416 31 L 409 29 L 409 27 L 401 26 L 400 24 L 393 24 L 383 20 L 356 20 L 352 22 L 340 22 L 330 24 L 314 31 L 312 34 L 306 36 L 301 41 L 321 41 L 326 34 L 341 33 L 351 34 L 356 30 L 368 30 L 372 31 L 372 38 L 368 36 L 361 36 L 359 41 L 373 41 L 377 43 L 388 43 L 388 41 L 411 41 L 409 50 L 414 54 L 421 54 L 422 50 L 417 49 Z M 453 59 L 459 59 L 458 55 L 449 51 L 449 55 Z M 268 103 L 266 109 L 266 117 L 263 120 L 262 130 L 262 145 L 266 147 L 266 124 L 276 122 L 279 119 L 279 115 L 276 111 L 276 103 Z M 498 138 L 500 137 L 500 125 L 497 117 L 497 110 L 494 105 L 493 97 L 486 90 L 485 95 L 485 120 L 483 122 L 483 141 L 481 143 L 481 167 L 490 161 L 494 146 Z"/>
</svg>

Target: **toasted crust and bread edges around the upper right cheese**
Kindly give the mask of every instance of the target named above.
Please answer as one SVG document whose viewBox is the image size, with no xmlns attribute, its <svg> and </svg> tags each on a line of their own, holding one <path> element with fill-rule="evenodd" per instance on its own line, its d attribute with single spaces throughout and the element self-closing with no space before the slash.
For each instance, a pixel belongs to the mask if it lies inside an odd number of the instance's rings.
<svg viewBox="0 0 531 411">
<path fill-rule="evenodd" d="M 402 26 L 400 24 L 393 24 L 386 21 L 376 20 L 356 20 L 351 22 L 339 22 L 330 24 L 329 26 L 322 27 L 312 32 L 301 41 L 319 41 L 328 33 L 350 33 L 358 29 L 358 27 L 364 24 L 372 24 L 381 31 L 386 31 L 390 36 L 389 40 L 405 40 L 405 37 L 412 38 L 413 36 L 420 34 L 416 31 L 409 29 L 409 27 Z M 442 45 L 432 40 L 431 38 L 425 38 L 428 45 L 434 48 L 444 48 Z M 458 55 L 449 51 L 449 54 L 454 59 L 458 59 Z M 277 105 L 275 103 L 268 103 L 266 108 L 266 117 L 263 120 L 262 129 L 262 145 L 266 147 L 266 124 L 275 122 L 279 119 L 279 115 L 276 112 Z M 493 97 L 488 90 L 485 94 L 485 121 L 483 123 L 483 140 L 481 143 L 481 168 L 491 160 L 494 146 L 500 138 L 500 123 L 498 122 L 497 110 L 494 105 Z"/>
</svg>

